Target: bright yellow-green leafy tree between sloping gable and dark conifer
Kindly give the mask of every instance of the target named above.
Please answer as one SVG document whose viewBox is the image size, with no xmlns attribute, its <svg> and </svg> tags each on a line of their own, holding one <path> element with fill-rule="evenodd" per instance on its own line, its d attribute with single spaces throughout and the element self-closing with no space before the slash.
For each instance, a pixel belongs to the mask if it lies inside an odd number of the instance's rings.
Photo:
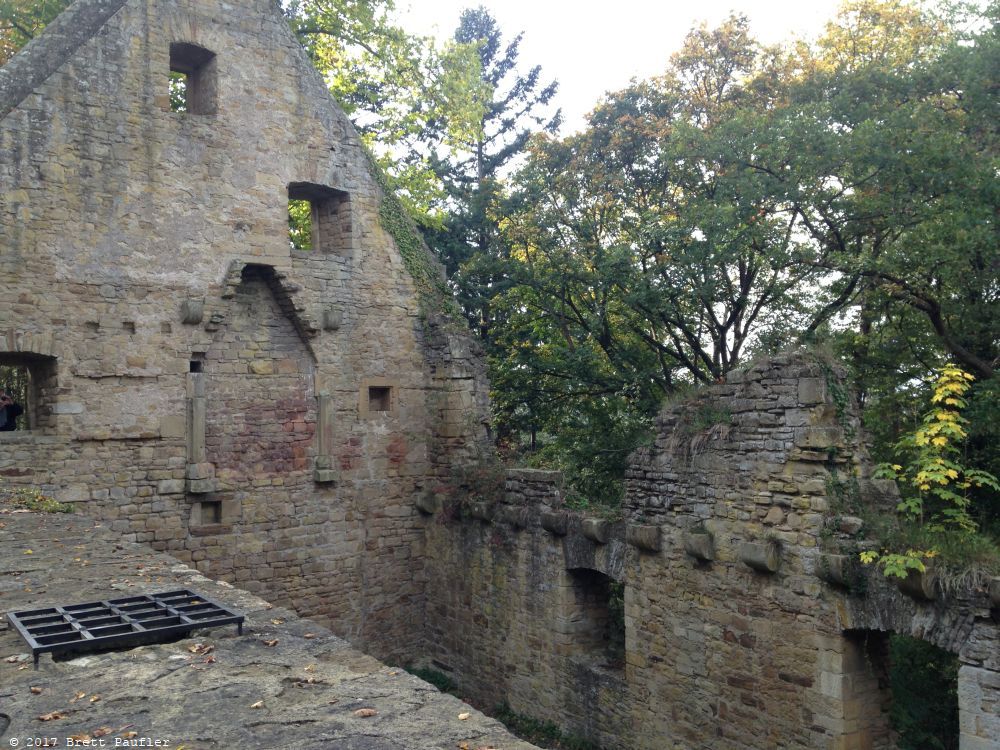
<svg viewBox="0 0 1000 750">
<path fill-rule="evenodd" d="M 432 146 L 478 137 L 488 89 L 475 45 L 438 46 L 392 20 L 392 0 L 289 0 L 285 15 L 418 221 L 440 223 Z"/>
</svg>

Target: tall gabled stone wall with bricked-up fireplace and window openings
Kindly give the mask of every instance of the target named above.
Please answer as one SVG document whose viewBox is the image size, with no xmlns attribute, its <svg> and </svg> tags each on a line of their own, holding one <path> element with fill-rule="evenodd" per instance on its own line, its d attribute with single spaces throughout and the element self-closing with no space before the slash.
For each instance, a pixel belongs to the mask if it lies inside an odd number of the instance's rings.
<svg viewBox="0 0 1000 750">
<path fill-rule="evenodd" d="M 0 477 L 404 658 L 413 499 L 485 435 L 475 352 L 418 301 L 274 3 L 67 18 L 0 76 L 0 364 L 44 386 L 35 429 L 0 435 Z M 172 111 L 174 43 L 215 53 L 212 113 Z M 293 185 L 336 197 L 312 251 L 290 248 Z"/>
</svg>

